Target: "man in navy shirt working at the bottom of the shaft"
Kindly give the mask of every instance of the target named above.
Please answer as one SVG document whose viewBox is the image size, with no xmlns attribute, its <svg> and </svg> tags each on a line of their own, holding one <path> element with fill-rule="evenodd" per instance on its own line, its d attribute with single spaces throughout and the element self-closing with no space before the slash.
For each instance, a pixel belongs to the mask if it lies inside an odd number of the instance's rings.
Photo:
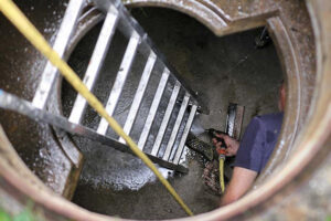
<svg viewBox="0 0 331 221">
<path fill-rule="evenodd" d="M 265 168 L 280 131 L 285 108 L 285 85 L 279 90 L 280 113 L 254 117 L 246 128 L 241 144 L 227 135 L 218 134 L 227 146 L 226 156 L 236 156 L 232 179 L 221 199 L 221 207 L 238 200 L 253 186 L 256 177 Z M 213 139 L 214 145 L 222 143 Z"/>
</svg>

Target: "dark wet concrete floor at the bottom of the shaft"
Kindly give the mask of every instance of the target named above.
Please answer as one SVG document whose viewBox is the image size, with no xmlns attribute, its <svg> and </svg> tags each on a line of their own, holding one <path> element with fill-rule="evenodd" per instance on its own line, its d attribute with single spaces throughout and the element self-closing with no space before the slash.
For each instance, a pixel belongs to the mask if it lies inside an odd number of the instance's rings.
<svg viewBox="0 0 331 221">
<path fill-rule="evenodd" d="M 197 21 L 175 11 L 145 8 L 134 9 L 132 13 L 188 84 L 207 102 L 211 114 L 199 116 L 204 128 L 224 130 L 229 102 L 245 106 L 244 128 L 253 116 L 277 112 L 277 87 L 282 73 L 273 45 L 261 50 L 255 49 L 254 39 L 260 33 L 260 29 L 216 38 Z M 92 35 L 86 36 L 87 43 L 96 38 L 95 33 Z M 118 36 L 118 42 L 122 41 L 120 39 Z M 84 39 L 81 43 L 83 42 Z M 88 49 L 78 50 L 82 51 L 82 57 L 79 52 L 74 52 L 70 63 L 83 75 L 86 67 L 79 71 L 79 65 L 88 61 L 85 53 Z M 114 53 L 118 54 L 120 52 Z M 116 59 L 116 62 L 120 61 Z M 109 80 L 113 77 L 114 81 L 115 66 L 116 64 L 106 62 L 100 76 Z M 137 64 L 136 70 L 139 67 Z M 110 88 L 109 85 L 102 85 L 97 87 L 96 94 L 104 99 L 100 94 L 107 94 Z M 70 91 L 64 84 L 65 115 L 72 105 L 71 97 L 75 96 Z M 130 90 L 126 92 L 131 93 Z M 128 110 L 129 104 L 130 101 L 124 101 L 122 105 L 119 105 L 121 110 L 116 112 L 119 122 L 121 116 L 126 115 L 124 113 Z M 93 127 L 99 118 L 93 113 L 90 116 L 89 123 L 84 124 Z M 95 212 L 128 219 L 185 217 L 164 187 L 139 159 L 84 138 L 75 137 L 75 141 L 85 157 L 81 180 L 73 199 L 75 203 Z M 211 211 L 217 207 L 220 196 L 215 196 L 203 183 L 201 177 L 204 162 L 201 157 L 190 151 L 188 155 L 190 168 L 188 175 L 173 175 L 166 169 L 162 169 L 162 173 L 169 177 L 170 182 L 194 213 Z"/>
</svg>

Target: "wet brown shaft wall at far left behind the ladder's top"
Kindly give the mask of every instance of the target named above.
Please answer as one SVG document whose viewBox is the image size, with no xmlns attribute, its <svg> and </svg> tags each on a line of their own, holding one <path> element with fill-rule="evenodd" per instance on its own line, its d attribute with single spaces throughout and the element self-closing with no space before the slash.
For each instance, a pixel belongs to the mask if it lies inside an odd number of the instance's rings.
<svg viewBox="0 0 331 221">
<path fill-rule="evenodd" d="M 67 1 L 28 0 L 15 3 L 52 44 Z M 0 88 L 31 101 L 46 60 L 2 13 L 0 41 Z M 62 194 L 72 171 L 72 162 L 58 146 L 52 128 L 3 109 L 0 109 L 0 124 L 26 166 L 47 187 Z"/>
</svg>

